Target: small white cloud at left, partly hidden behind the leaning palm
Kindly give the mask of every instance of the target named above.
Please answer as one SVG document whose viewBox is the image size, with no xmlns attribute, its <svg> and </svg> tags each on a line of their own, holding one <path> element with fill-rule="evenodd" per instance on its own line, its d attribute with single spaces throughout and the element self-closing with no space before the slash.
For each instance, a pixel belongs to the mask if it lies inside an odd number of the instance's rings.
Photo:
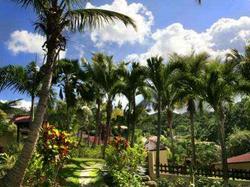
<svg viewBox="0 0 250 187">
<path fill-rule="evenodd" d="M 7 41 L 7 47 L 14 55 L 19 53 L 31 53 L 37 54 L 43 59 L 45 51 L 42 46 L 45 42 L 45 37 L 37 34 L 28 32 L 26 30 L 16 30 L 11 33 L 10 39 Z M 66 52 L 60 53 L 60 58 L 65 57 Z"/>
</svg>

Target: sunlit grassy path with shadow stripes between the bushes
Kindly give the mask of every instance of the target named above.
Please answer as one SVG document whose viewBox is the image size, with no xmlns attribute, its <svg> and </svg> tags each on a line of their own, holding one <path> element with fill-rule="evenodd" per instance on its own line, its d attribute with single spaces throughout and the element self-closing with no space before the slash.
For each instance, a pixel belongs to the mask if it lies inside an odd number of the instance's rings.
<svg viewBox="0 0 250 187">
<path fill-rule="evenodd" d="M 67 187 L 101 187 L 102 177 L 99 171 L 104 161 L 101 159 L 74 158 L 60 171 L 63 186 Z"/>
</svg>

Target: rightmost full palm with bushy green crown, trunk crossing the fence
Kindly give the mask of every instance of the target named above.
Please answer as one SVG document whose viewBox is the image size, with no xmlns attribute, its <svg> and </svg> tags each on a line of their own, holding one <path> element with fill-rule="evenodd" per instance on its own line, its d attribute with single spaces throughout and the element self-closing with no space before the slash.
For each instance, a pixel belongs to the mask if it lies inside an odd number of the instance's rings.
<svg viewBox="0 0 250 187">
<path fill-rule="evenodd" d="M 228 186 L 227 149 L 225 145 L 225 109 L 233 100 L 237 88 L 235 65 L 221 63 L 219 60 L 209 62 L 203 76 L 203 97 L 214 109 L 218 121 L 219 140 L 221 146 L 221 160 L 224 186 Z"/>
</svg>

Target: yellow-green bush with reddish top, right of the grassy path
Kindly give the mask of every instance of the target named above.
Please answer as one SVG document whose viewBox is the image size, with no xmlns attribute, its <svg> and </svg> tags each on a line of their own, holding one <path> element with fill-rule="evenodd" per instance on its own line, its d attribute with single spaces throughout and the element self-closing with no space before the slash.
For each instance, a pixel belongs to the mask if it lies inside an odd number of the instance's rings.
<svg viewBox="0 0 250 187">
<path fill-rule="evenodd" d="M 106 150 L 107 170 L 114 185 L 141 186 L 141 177 L 137 174 L 137 169 L 144 163 L 145 158 L 143 146 L 136 144 L 131 148 L 124 138 L 116 137 Z"/>
</svg>

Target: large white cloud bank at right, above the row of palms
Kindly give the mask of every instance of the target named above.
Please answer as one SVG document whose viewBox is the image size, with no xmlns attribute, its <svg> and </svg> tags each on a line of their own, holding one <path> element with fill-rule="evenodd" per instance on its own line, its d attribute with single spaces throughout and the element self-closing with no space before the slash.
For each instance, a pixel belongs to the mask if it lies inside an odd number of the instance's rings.
<svg viewBox="0 0 250 187">
<path fill-rule="evenodd" d="M 127 60 L 139 60 L 160 55 L 168 59 L 172 53 L 182 55 L 192 51 L 208 52 L 212 57 L 223 56 L 231 48 L 240 51 L 250 38 L 250 17 L 239 19 L 221 18 L 204 32 L 185 29 L 182 24 L 174 23 L 152 34 L 153 45 L 143 54 L 130 54 Z"/>
</svg>

